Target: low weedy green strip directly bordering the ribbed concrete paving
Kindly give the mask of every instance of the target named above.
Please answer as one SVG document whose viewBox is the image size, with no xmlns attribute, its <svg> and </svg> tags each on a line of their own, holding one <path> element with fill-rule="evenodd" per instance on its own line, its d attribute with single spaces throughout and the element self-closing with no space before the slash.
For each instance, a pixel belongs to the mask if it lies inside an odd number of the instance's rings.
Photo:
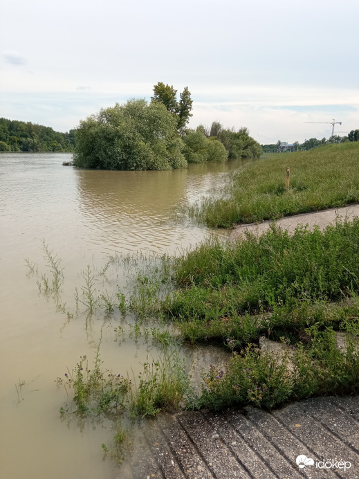
<svg viewBox="0 0 359 479">
<path fill-rule="evenodd" d="M 313 325 L 307 332 L 307 347 L 283 341 L 282 352 L 270 354 L 250 346 L 234 354 L 227 370 L 212 367 L 199 405 L 219 409 L 252 404 L 272 409 L 315 395 L 357 394 L 359 354 L 353 341 L 341 351 L 332 329 L 320 331 Z"/>
</svg>

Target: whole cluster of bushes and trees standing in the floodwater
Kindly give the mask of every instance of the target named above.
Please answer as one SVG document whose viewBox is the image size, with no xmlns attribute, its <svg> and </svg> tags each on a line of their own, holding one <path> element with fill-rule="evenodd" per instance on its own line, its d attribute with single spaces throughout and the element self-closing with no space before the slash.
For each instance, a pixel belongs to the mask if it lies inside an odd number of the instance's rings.
<svg viewBox="0 0 359 479">
<path fill-rule="evenodd" d="M 246 128 L 190 129 L 192 99 L 187 87 L 177 100 L 174 87 L 158 82 L 151 101 L 131 99 L 101 109 L 82 120 L 76 130 L 73 164 L 106 170 L 170 170 L 188 163 L 222 163 L 254 158 L 261 146 Z"/>
</svg>

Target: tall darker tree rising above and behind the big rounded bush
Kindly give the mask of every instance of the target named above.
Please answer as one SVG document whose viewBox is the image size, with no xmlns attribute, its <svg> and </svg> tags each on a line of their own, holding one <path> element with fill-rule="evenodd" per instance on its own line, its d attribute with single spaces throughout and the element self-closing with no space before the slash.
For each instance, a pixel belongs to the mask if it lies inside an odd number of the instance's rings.
<svg viewBox="0 0 359 479">
<path fill-rule="evenodd" d="M 180 101 L 177 102 L 177 90 L 171 85 L 158 82 L 154 85 L 154 96 L 151 96 L 151 102 L 163 103 L 170 114 L 176 117 L 178 132 L 183 133 L 185 127 L 192 116 L 191 93 L 187 87 L 180 93 Z"/>
</svg>

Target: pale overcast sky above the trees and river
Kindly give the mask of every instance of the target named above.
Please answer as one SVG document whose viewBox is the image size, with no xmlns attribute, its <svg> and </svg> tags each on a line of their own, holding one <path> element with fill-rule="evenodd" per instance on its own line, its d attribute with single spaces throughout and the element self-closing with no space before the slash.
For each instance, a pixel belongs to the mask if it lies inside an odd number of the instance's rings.
<svg viewBox="0 0 359 479">
<path fill-rule="evenodd" d="M 259 143 L 359 128 L 358 0 L 3 0 L 0 116 L 66 132 L 157 82 Z M 328 122 L 328 123 L 304 123 Z"/>
</svg>

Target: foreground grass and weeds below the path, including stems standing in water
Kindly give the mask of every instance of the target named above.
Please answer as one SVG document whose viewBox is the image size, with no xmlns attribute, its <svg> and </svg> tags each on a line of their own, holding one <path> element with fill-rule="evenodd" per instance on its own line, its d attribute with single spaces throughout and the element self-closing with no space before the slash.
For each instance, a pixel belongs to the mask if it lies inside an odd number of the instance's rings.
<svg viewBox="0 0 359 479">
<path fill-rule="evenodd" d="M 82 301 L 88 314 L 102 306 L 110 315 L 131 311 L 135 323 L 127 334 L 151 336 L 164 353 L 142 364 L 132 386 L 124 372 L 104 375 L 100 346 L 93 370 L 82 356 L 65 375 L 74 390 L 73 412 L 107 408 L 146 417 L 180 404 L 273 408 L 290 399 L 359 392 L 358 244 L 359 219 L 338 221 L 325 231 L 298 227 L 293 235 L 274 225 L 260 237 L 248 233 L 235 243 L 211 240 L 180 257 L 145 260 L 127 292 L 95 290 L 95 270 L 88 267 Z M 62 273 L 56 256 L 43 247 L 53 258 L 48 268 Z M 96 274 L 107 274 L 110 267 L 116 271 L 128 261 L 111 257 L 111 266 Z M 35 274 L 35 264 L 27 263 Z M 160 327 L 154 327 L 156 318 Z M 175 334 L 166 323 L 175 323 Z M 123 325 L 119 334 L 126 334 Z M 262 351 L 262 337 L 282 343 L 281 351 Z M 227 369 L 214 365 L 204 375 L 200 395 L 190 385 L 178 341 L 222 345 L 232 354 Z"/>
</svg>

